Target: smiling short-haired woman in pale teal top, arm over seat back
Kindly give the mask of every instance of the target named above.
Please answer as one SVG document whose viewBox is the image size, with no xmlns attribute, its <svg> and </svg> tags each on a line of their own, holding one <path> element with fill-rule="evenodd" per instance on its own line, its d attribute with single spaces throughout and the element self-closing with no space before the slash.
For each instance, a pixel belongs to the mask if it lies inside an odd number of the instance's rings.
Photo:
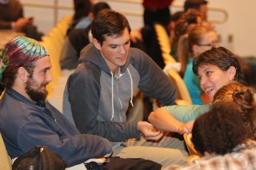
<svg viewBox="0 0 256 170">
<path fill-rule="evenodd" d="M 237 57 L 221 46 L 214 46 L 194 58 L 193 71 L 199 77 L 200 86 L 210 101 L 213 101 L 214 94 L 222 86 L 231 82 L 244 83 Z M 149 121 L 164 132 L 191 132 L 194 120 L 209 111 L 211 105 L 166 106 L 150 113 Z"/>
</svg>

